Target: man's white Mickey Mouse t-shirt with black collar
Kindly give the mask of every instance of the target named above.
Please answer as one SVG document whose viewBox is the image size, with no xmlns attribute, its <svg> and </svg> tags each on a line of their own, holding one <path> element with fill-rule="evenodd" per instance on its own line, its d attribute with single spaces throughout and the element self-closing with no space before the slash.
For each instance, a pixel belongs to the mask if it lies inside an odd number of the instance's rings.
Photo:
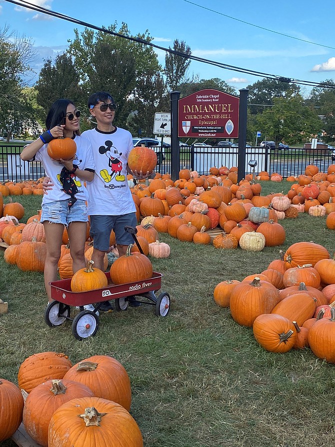
<svg viewBox="0 0 335 447">
<path fill-rule="evenodd" d="M 120 216 L 136 211 L 127 181 L 127 159 L 133 148 L 132 136 L 125 129 L 113 132 L 86 130 L 81 134 L 91 146 L 95 173 L 88 190 L 88 214 Z"/>
</svg>

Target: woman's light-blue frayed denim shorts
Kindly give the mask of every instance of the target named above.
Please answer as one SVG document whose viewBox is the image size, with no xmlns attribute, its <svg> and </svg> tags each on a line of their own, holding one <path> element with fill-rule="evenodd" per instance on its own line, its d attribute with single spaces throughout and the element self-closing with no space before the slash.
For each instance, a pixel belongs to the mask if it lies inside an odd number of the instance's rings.
<svg viewBox="0 0 335 447">
<path fill-rule="evenodd" d="M 68 226 L 71 222 L 87 222 L 87 206 L 84 200 L 77 200 L 68 208 L 68 200 L 57 200 L 42 204 L 40 221 L 47 220 L 50 223 L 61 223 Z"/>
</svg>

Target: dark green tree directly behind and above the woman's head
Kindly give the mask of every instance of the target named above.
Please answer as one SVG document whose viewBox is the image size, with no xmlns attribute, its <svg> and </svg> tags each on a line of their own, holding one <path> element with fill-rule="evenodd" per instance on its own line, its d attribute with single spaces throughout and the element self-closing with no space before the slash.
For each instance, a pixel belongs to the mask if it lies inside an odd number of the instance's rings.
<svg viewBox="0 0 335 447">
<path fill-rule="evenodd" d="M 70 56 L 58 55 L 53 65 L 51 59 L 45 61 L 35 84 L 37 103 L 43 110 L 43 121 L 51 104 L 59 98 L 70 99 L 77 107 L 86 103 L 79 81 L 79 74 Z"/>
</svg>

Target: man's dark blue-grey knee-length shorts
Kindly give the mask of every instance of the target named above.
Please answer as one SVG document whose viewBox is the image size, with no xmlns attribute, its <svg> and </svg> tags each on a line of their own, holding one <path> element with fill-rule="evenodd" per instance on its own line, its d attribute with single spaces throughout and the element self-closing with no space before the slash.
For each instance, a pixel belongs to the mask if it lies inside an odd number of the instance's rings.
<svg viewBox="0 0 335 447">
<path fill-rule="evenodd" d="M 132 235 L 124 230 L 126 225 L 131 227 L 137 225 L 135 213 L 122 214 L 121 216 L 90 216 L 89 234 L 93 238 L 94 248 L 100 251 L 108 250 L 111 230 L 114 230 L 116 244 L 133 244 Z"/>
</svg>

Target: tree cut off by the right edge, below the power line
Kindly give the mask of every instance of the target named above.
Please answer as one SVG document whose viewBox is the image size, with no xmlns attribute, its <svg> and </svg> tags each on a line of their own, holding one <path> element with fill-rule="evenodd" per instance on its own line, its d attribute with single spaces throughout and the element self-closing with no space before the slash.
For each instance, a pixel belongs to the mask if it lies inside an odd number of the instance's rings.
<svg viewBox="0 0 335 447">
<path fill-rule="evenodd" d="M 326 86 L 331 85 L 333 88 Z M 322 126 L 325 132 L 324 141 L 329 143 L 335 140 L 335 82 L 333 79 L 326 79 L 318 87 L 314 87 L 307 100 L 312 107 L 315 107 L 317 114 L 322 119 Z"/>
</svg>

